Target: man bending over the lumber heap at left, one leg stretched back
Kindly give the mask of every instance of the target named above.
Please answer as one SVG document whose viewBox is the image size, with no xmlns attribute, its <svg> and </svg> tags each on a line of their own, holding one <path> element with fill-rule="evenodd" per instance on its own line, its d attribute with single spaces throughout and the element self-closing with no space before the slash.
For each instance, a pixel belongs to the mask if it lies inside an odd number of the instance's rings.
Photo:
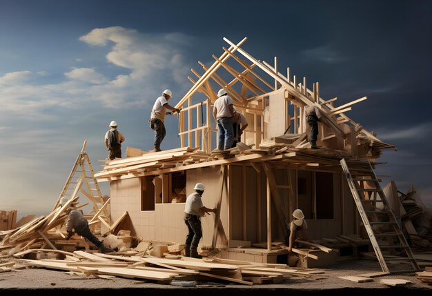
<svg viewBox="0 0 432 296">
<path fill-rule="evenodd" d="M 64 206 L 66 202 L 68 202 L 68 199 L 66 197 L 62 197 L 60 200 L 60 206 Z M 102 241 L 99 241 L 99 239 L 93 235 L 93 233 L 90 231 L 90 228 L 88 227 L 88 221 L 84 217 L 82 210 L 78 210 L 75 207 L 75 204 L 72 203 L 70 205 L 70 207 L 66 210 L 66 215 L 68 215 L 68 221 L 66 221 L 66 231 L 68 232 L 68 237 L 66 237 L 66 239 L 70 239 L 70 237 L 72 237 L 74 234 L 73 230 L 75 230 L 75 233 L 81 235 L 81 237 L 86 237 L 86 239 L 95 244 L 101 253 L 114 252 L 114 250 L 105 246 Z"/>
</svg>

